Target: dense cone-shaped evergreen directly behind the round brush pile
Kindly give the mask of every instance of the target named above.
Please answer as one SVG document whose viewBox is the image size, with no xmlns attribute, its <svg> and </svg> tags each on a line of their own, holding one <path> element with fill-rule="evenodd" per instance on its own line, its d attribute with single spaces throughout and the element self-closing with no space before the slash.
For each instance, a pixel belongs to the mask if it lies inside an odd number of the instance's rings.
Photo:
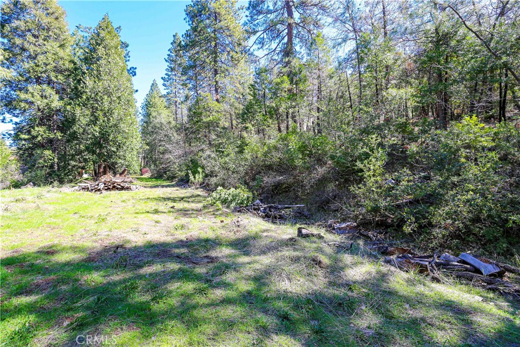
<svg viewBox="0 0 520 347">
<path fill-rule="evenodd" d="M 79 100 L 81 111 L 75 127 L 84 139 L 83 165 L 95 174 L 138 166 L 140 136 L 132 77 L 125 49 L 112 22 L 105 15 L 90 35 L 82 57 Z"/>
</svg>

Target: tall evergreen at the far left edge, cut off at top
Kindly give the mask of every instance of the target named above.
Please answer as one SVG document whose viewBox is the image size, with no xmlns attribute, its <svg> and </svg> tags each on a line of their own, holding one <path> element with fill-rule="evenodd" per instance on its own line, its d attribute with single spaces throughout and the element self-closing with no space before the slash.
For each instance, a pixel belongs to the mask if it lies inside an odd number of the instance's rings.
<svg viewBox="0 0 520 347">
<path fill-rule="evenodd" d="M 13 144 L 30 179 L 56 176 L 63 152 L 71 35 L 56 0 L 2 5 L 2 114 L 16 118 Z"/>
</svg>

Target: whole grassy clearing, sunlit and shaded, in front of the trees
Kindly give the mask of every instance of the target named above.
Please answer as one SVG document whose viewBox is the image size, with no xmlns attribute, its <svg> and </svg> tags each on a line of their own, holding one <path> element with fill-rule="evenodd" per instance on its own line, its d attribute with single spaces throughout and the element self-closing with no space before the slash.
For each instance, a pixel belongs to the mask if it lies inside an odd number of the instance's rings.
<svg viewBox="0 0 520 347">
<path fill-rule="evenodd" d="M 520 345 L 518 302 L 139 179 L 1 192 L 2 346 Z"/>
</svg>

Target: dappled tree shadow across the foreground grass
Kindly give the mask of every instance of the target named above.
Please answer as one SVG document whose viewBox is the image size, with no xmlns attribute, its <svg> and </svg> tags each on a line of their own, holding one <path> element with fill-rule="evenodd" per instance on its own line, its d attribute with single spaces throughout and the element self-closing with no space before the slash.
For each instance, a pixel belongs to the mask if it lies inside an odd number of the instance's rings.
<svg viewBox="0 0 520 347">
<path fill-rule="evenodd" d="M 497 324 L 484 331 L 479 316 L 490 312 L 389 286 L 384 267 L 345 279 L 356 263 L 320 252 L 319 241 L 278 239 L 252 249 L 257 242 L 265 240 L 188 236 L 12 254 L 2 259 L 2 341 L 76 345 L 89 335 L 123 345 L 513 346 L 520 340 L 512 319 L 493 316 Z M 321 286 L 297 290 L 318 279 Z M 506 313 L 518 313 L 516 302 L 506 304 Z"/>
</svg>

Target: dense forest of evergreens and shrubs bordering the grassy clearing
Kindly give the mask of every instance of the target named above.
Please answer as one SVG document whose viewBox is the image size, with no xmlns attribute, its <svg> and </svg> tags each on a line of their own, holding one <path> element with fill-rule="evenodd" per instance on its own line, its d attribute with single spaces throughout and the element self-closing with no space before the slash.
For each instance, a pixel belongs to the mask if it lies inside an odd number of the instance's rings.
<svg viewBox="0 0 520 347">
<path fill-rule="evenodd" d="M 56 0 L 4 2 L 3 187 L 146 167 L 432 248 L 518 246 L 518 2 L 195 0 L 185 16 L 138 110 L 108 15 L 70 34 Z"/>
</svg>

